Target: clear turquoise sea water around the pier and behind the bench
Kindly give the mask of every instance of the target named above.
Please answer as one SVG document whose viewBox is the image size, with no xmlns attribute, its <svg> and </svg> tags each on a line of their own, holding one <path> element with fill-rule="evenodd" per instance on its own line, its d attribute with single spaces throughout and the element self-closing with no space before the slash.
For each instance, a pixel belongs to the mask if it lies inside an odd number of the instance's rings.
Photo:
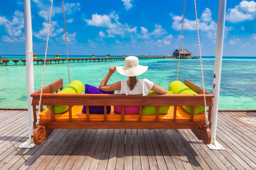
<svg viewBox="0 0 256 170">
<path fill-rule="evenodd" d="M 3 56 L 4 57 L 4 56 Z M 9 57 L 7 57 L 9 58 Z M 21 58 L 19 56 L 19 58 Z M 171 81 L 176 80 L 177 63 L 174 59 L 139 60 L 149 69 L 139 79 L 149 79 L 168 90 Z M 83 84 L 99 86 L 112 65 L 123 65 L 117 62 L 80 62 L 70 63 L 71 80 L 78 79 Z M 214 60 L 203 59 L 203 70 L 206 90 L 212 92 Z M 0 108 L 27 108 L 26 101 L 26 66 L 0 65 Z M 43 65 L 34 65 L 35 91 L 41 88 Z M 44 86 L 62 78 L 64 86 L 68 85 L 67 64 L 47 64 Z M 114 73 L 109 83 L 124 80 L 126 77 Z M 178 79 L 188 79 L 202 86 L 200 60 L 181 60 Z M 256 109 L 256 59 L 223 59 L 223 70 L 220 85 L 220 109 Z"/>
</svg>

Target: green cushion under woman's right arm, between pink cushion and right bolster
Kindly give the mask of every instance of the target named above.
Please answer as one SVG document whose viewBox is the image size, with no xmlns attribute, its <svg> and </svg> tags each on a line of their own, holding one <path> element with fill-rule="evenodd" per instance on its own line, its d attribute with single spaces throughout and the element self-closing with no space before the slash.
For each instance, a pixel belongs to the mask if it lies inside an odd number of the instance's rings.
<svg viewBox="0 0 256 170">
<path fill-rule="evenodd" d="M 149 91 L 149 94 L 159 94 L 156 91 Z M 169 91 L 167 94 L 173 94 L 172 91 Z M 169 110 L 170 106 L 160 106 L 159 114 L 166 114 Z M 156 115 L 156 106 L 143 106 L 142 107 L 142 115 Z"/>
</svg>

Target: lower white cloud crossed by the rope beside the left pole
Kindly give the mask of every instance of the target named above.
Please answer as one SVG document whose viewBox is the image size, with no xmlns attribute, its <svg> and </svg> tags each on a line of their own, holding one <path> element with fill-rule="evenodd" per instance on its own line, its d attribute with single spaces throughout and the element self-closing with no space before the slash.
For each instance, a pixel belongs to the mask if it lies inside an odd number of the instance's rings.
<svg viewBox="0 0 256 170">
<path fill-rule="evenodd" d="M 57 21 L 51 21 L 50 23 L 50 37 L 56 37 L 63 32 L 63 28 L 58 27 Z M 43 23 L 43 28 L 38 32 L 33 33 L 36 38 L 46 40 L 48 34 L 48 23 Z"/>
</svg>

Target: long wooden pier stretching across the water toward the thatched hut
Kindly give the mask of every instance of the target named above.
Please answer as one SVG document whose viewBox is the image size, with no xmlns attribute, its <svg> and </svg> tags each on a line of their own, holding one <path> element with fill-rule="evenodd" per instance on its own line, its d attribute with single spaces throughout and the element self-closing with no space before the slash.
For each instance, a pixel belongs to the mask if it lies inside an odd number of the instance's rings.
<svg viewBox="0 0 256 170">
<path fill-rule="evenodd" d="M 166 56 L 160 56 L 160 57 L 138 57 L 139 60 L 147 60 L 147 59 L 176 59 L 176 57 L 166 57 Z M 198 57 L 191 57 L 191 59 L 195 59 Z M 92 58 L 92 57 L 87 57 L 87 58 L 69 58 L 68 62 L 112 62 L 112 61 L 123 61 L 125 60 L 125 57 L 97 57 L 97 58 Z M 9 62 L 14 62 L 15 65 L 17 65 L 18 62 L 23 62 L 23 65 L 26 65 L 26 60 L 25 59 L 0 59 L 0 64 L 5 64 L 6 66 L 9 64 Z M 44 59 L 34 59 L 34 63 L 36 64 L 43 64 Z M 48 58 L 46 59 L 46 64 L 60 64 L 67 62 L 67 58 Z"/>
</svg>

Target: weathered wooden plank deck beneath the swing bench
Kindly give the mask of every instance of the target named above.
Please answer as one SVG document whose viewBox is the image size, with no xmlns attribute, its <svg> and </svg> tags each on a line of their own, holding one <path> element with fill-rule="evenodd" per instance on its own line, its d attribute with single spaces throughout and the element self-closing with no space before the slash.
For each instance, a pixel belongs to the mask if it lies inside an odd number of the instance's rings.
<svg viewBox="0 0 256 170">
<path fill-rule="evenodd" d="M 256 112 L 220 112 L 211 151 L 191 130 L 55 130 L 33 149 L 27 111 L 0 111 L 0 169 L 256 169 Z"/>
</svg>

